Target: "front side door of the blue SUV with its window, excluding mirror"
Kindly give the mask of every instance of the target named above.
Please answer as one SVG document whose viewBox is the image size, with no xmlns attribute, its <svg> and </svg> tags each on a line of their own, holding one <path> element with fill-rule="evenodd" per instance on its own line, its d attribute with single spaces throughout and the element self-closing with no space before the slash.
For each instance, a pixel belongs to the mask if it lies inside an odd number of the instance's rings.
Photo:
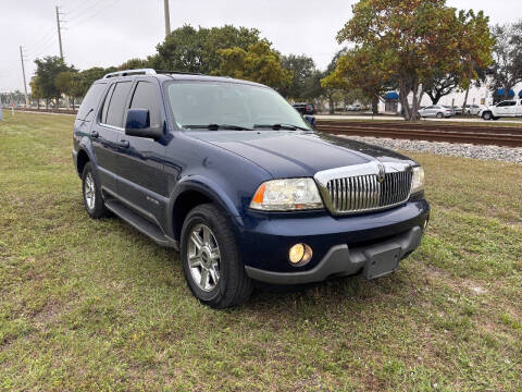
<svg viewBox="0 0 522 392">
<path fill-rule="evenodd" d="M 158 81 L 138 78 L 126 109 L 148 109 L 150 125 L 164 127 L 161 102 Z M 161 225 L 167 200 L 163 173 L 164 142 L 125 134 L 120 136 L 117 193 L 129 207 Z"/>
</svg>

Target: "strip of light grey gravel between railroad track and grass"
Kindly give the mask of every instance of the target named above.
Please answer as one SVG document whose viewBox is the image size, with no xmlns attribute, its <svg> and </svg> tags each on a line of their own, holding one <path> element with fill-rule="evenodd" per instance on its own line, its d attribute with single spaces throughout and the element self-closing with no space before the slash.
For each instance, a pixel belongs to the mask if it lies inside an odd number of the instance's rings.
<svg viewBox="0 0 522 392">
<path fill-rule="evenodd" d="M 391 139 L 381 137 L 361 137 L 345 136 L 350 139 L 386 147 L 393 150 L 430 152 L 451 157 L 475 158 L 482 160 L 500 160 L 505 162 L 522 163 L 521 147 L 498 147 L 498 146 L 475 146 L 471 144 L 456 144 L 446 142 L 423 142 L 423 140 L 406 140 Z"/>
</svg>

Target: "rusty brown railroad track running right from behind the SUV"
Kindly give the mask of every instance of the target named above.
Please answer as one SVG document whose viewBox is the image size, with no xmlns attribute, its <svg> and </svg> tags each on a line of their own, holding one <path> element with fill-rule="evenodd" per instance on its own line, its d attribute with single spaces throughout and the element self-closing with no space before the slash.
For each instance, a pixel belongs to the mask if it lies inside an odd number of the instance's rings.
<svg viewBox="0 0 522 392">
<path fill-rule="evenodd" d="M 340 135 L 522 147 L 522 128 L 513 126 L 318 121 L 316 127 Z"/>
</svg>

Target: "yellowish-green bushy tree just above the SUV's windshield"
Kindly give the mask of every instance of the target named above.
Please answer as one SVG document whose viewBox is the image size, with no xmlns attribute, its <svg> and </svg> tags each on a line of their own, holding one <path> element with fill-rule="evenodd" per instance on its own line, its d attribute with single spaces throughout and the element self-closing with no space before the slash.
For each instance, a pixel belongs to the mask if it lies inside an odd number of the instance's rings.
<svg viewBox="0 0 522 392">
<path fill-rule="evenodd" d="M 276 89 L 287 88 L 291 83 L 291 71 L 281 66 L 281 56 L 269 44 L 259 41 L 247 50 L 241 48 L 221 49 L 221 65 L 215 74 L 262 83 Z"/>
</svg>

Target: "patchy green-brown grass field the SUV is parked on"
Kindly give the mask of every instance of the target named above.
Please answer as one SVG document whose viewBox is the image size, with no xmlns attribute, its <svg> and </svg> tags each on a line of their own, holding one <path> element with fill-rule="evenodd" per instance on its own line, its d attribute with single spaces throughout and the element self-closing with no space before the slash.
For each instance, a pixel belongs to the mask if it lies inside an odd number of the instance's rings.
<svg viewBox="0 0 522 392">
<path fill-rule="evenodd" d="M 411 154 L 432 220 L 397 273 L 215 311 L 176 253 L 88 219 L 72 123 L 0 122 L 1 389 L 522 390 L 522 166 Z"/>
</svg>

